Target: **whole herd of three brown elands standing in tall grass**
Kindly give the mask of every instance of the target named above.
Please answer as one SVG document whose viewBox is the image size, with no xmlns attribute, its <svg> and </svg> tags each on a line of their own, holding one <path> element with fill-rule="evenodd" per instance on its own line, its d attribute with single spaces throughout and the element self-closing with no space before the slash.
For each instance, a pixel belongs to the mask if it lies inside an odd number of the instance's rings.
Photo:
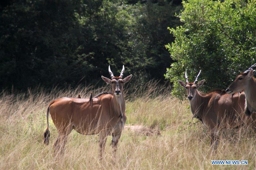
<svg viewBox="0 0 256 170">
<path fill-rule="evenodd" d="M 220 128 L 239 127 L 242 124 L 256 133 L 256 64 L 238 75 L 226 89 L 216 89 L 207 94 L 198 91 L 204 79 L 198 81 L 197 75 L 193 83 L 189 83 L 187 70 L 185 80 L 179 84 L 187 91 L 193 117 L 199 119 L 210 134 L 211 146 L 216 150 Z M 99 134 L 99 159 L 103 158 L 108 136 L 112 136 L 111 145 L 115 156 L 119 138 L 126 122 L 123 86 L 130 81 L 132 75 L 123 78 L 124 66 L 119 76 L 115 77 L 110 66 L 108 72 L 111 79 L 101 76 L 103 81 L 112 86 L 112 92 L 102 92 L 93 97 L 83 99 L 63 97 L 48 105 L 46 112 L 47 127 L 44 132 L 44 143 L 49 144 L 49 113 L 58 130 L 54 142 L 56 155 L 64 152 L 68 135 L 74 129 L 83 135 Z"/>
</svg>

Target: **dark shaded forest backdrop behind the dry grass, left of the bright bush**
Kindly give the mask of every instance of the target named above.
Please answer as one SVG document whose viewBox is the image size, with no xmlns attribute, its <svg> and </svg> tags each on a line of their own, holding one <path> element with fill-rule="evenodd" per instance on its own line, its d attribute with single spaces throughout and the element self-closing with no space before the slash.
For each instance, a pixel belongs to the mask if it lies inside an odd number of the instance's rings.
<svg viewBox="0 0 256 170">
<path fill-rule="evenodd" d="M 0 87 L 96 83 L 126 66 L 134 83 L 164 79 L 167 27 L 180 0 L 6 1 L 0 6 Z M 168 61 L 168 62 L 167 62 Z"/>
</svg>

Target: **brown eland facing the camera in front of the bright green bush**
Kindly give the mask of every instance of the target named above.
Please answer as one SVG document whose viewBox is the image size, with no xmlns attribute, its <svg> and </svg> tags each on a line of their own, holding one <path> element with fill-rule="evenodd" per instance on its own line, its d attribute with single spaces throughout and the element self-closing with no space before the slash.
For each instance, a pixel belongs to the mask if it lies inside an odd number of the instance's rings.
<svg viewBox="0 0 256 170">
<path fill-rule="evenodd" d="M 204 84 L 204 79 L 196 84 L 201 73 L 193 83 L 189 83 L 187 70 L 185 72 L 186 83 L 179 84 L 187 90 L 188 100 L 193 117 L 202 121 L 208 129 L 211 137 L 211 146 L 217 149 L 218 130 L 221 127 L 237 127 L 241 124 L 239 116 L 243 112 L 245 95 L 241 93 L 233 96 L 226 94 L 225 90 L 217 89 L 207 94 L 200 93 L 197 89 Z"/>
</svg>

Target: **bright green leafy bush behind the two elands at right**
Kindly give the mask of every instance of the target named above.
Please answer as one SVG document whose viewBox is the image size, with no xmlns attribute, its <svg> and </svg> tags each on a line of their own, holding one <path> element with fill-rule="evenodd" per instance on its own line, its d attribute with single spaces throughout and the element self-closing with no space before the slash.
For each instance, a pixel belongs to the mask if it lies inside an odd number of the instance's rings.
<svg viewBox="0 0 256 170">
<path fill-rule="evenodd" d="M 185 69 L 190 82 L 202 70 L 203 91 L 226 89 L 256 62 L 256 1 L 188 0 L 183 7 L 179 17 L 184 25 L 170 29 L 176 38 L 166 45 L 176 61 L 165 75 L 174 82 L 173 95 L 183 98 L 185 90 L 177 80 L 185 81 Z"/>
</svg>

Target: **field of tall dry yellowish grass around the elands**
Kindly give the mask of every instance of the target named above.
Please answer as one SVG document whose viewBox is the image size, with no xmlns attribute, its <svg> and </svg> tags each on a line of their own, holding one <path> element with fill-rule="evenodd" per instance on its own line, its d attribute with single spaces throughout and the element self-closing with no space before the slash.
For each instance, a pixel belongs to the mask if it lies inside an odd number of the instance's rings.
<svg viewBox="0 0 256 170">
<path fill-rule="evenodd" d="M 129 86 L 129 85 L 128 85 Z M 73 131 L 65 154 L 56 159 L 52 145 L 57 131 L 50 120 L 50 144 L 43 144 L 46 106 L 56 98 L 89 97 L 109 90 L 42 88 L 26 93 L 0 94 L 0 169 L 256 169 L 255 135 L 245 127 L 221 132 L 218 149 L 212 152 L 210 138 L 201 122 L 192 120 L 189 102 L 179 102 L 170 89 L 148 83 L 126 86 L 126 126 L 142 125 L 159 129 L 161 136 L 144 136 L 126 128 L 112 159 L 111 137 L 104 158 L 98 159 L 98 135 L 85 136 Z M 248 165 L 211 165 L 211 160 L 248 160 Z"/>
</svg>

